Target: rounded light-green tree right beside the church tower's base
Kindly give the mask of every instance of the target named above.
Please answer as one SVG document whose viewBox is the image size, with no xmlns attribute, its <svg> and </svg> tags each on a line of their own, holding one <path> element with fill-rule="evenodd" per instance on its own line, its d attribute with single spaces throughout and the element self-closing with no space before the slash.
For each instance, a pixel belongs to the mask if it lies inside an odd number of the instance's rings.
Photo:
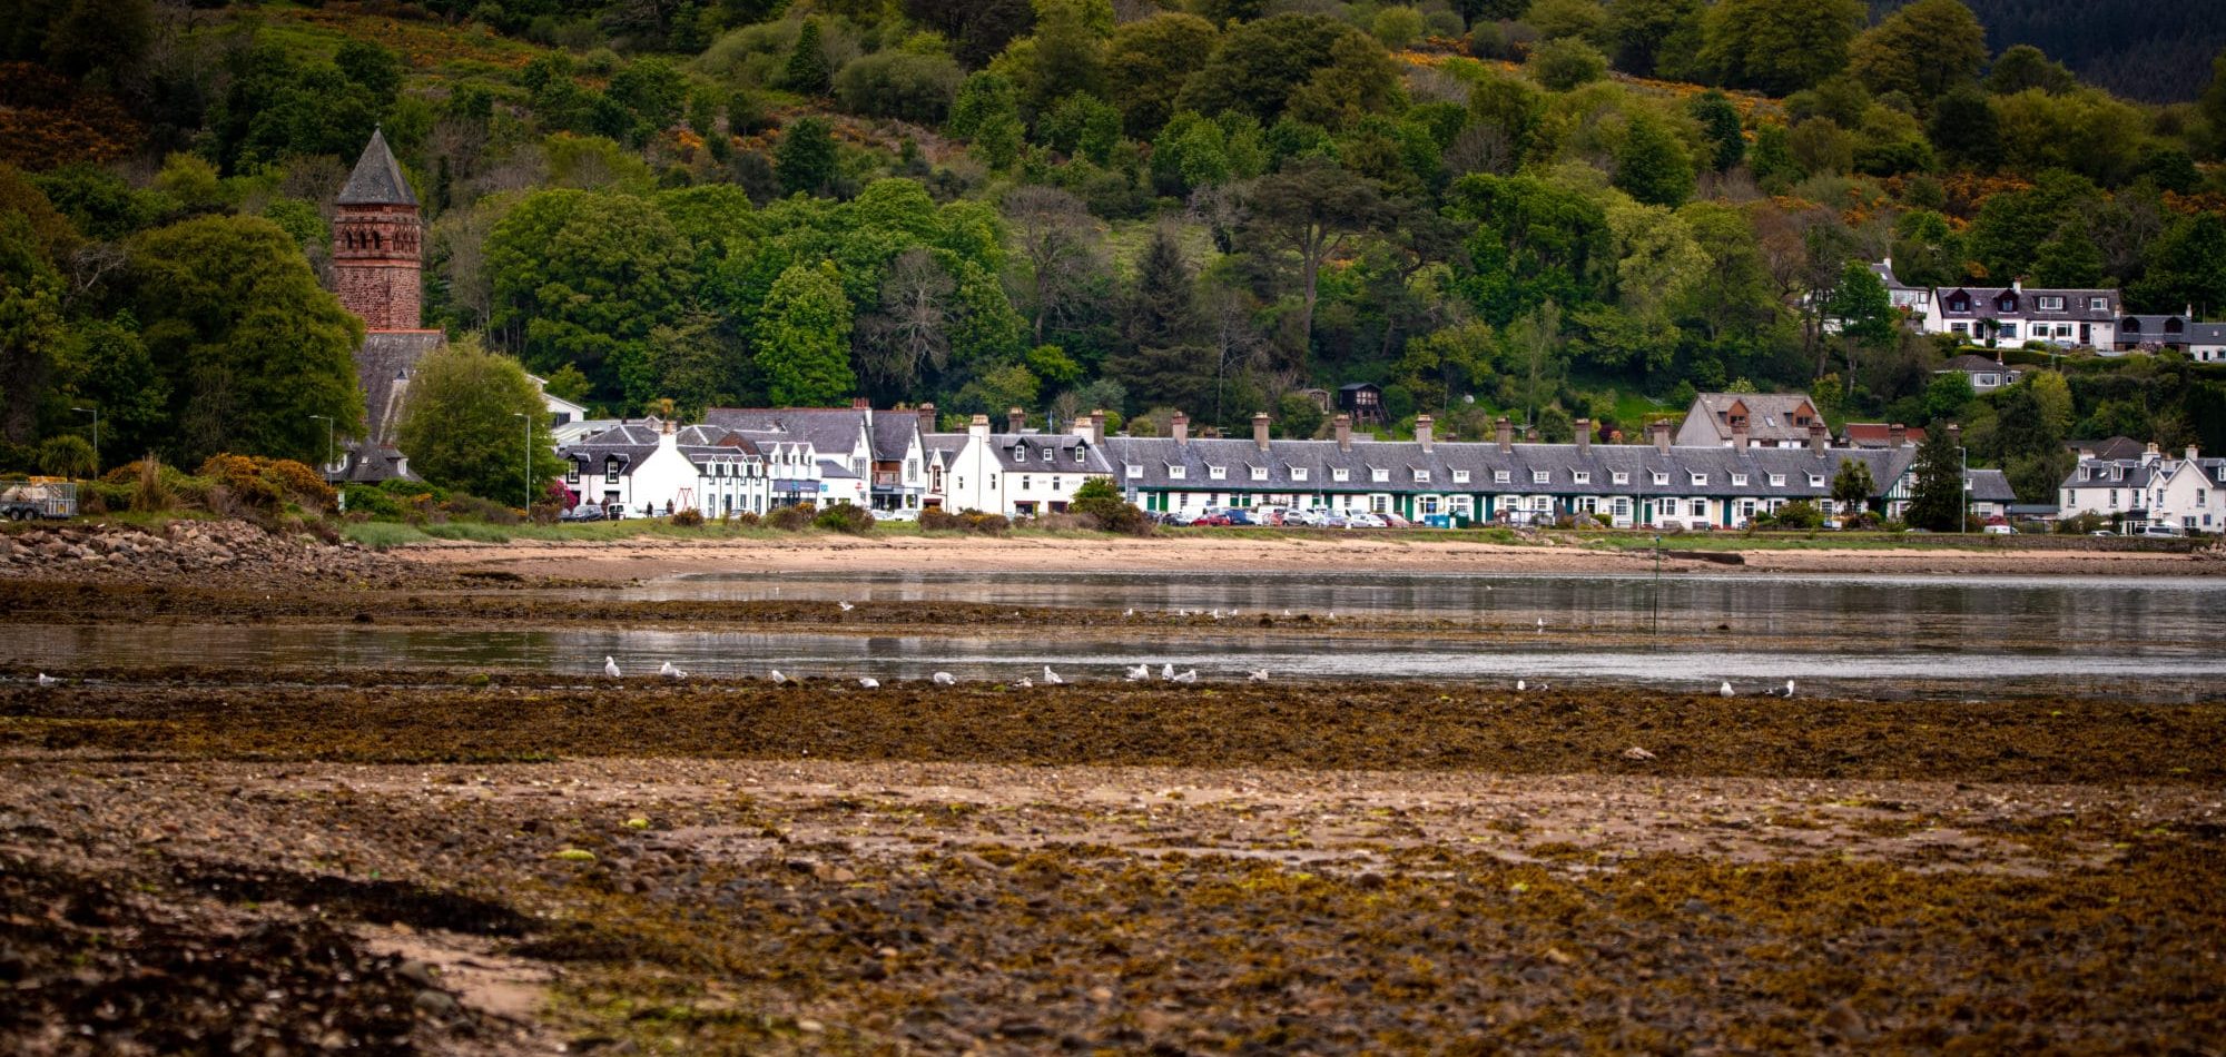
<svg viewBox="0 0 2226 1057">
<path fill-rule="evenodd" d="M 516 507 L 541 498 L 543 483 L 556 476 L 541 392 L 519 360 L 487 352 L 476 336 L 418 363 L 394 443 L 425 481 Z"/>
</svg>

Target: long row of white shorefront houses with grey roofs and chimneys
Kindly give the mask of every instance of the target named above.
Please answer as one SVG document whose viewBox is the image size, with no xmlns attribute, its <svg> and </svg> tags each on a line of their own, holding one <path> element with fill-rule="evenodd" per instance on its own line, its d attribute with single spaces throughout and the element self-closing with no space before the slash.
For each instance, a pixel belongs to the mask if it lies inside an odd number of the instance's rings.
<svg viewBox="0 0 2226 1057">
<path fill-rule="evenodd" d="M 1271 438 L 1264 414 L 1253 416 L 1251 438 L 1191 436 L 1182 414 L 1169 436 L 1106 436 L 1102 412 L 1066 432 L 1040 432 L 1017 407 L 1002 432 L 988 416 L 973 416 L 962 434 L 935 425 L 933 405 L 715 407 L 695 425 L 563 423 L 559 456 L 577 503 L 634 514 L 853 503 L 1040 516 L 1064 512 L 1095 476 L 1153 512 L 1273 505 L 1438 525 L 1605 516 L 1623 527 L 1739 527 L 1796 501 L 1841 514 L 1832 478 L 1848 461 L 1870 470 L 1870 505 L 1899 516 L 1917 461 L 1899 427 L 1872 445 L 1834 443 L 1799 394 L 1703 394 L 1678 436 L 1654 423 L 1638 445 L 1594 443 L 1585 421 L 1576 443 L 1516 443 L 1505 418 L 1491 441 L 1440 441 L 1429 416 L 1416 421 L 1411 441 L 1353 436 L 1345 416 L 1322 441 Z M 2012 501 L 1994 470 L 1970 472 L 1966 492 L 1979 516 L 1999 516 Z"/>
</svg>

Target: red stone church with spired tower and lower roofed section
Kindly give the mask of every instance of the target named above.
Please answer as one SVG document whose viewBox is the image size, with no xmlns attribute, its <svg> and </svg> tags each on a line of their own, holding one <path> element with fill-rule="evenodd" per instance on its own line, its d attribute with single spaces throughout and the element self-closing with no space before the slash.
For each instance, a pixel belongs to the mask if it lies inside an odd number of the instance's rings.
<svg viewBox="0 0 2226 1057">
<path fill-rule="evenodd" d="M 347 176 L 332 218 L 332 278 L 341 307 L 363 318 L 356 383 L 363 385 L 365 436 L 349 441 L 343 465 L 327 474 L 343 481 L 412 476 L 394 447 L 403 398 L 416 365 L 447 336 L 423 329 L 418 274 L 423 271 L 416 196 L 381 131 Z"/>
</svg>

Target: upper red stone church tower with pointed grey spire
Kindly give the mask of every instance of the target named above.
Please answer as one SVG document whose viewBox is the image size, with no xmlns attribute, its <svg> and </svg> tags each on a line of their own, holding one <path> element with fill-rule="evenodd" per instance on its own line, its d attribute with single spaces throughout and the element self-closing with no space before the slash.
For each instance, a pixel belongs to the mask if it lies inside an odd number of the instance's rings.
<svg viewBox="0 0 2226 1057">
<path fill-rule="evenodd" d="M 416 196 L 383 131 L 341 187 L 332 220 L 332 274 L 341 305 L 367 329 L 418 329 L 421 251 Z"/>
</svg>

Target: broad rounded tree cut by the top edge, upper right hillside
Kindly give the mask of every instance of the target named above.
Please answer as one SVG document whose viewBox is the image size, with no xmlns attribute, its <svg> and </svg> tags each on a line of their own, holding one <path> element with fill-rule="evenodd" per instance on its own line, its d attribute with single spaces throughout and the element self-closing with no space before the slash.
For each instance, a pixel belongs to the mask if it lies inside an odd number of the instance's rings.
<svg viewBox="0 0 2226 1057">
<path fill-rule="evenodd" d="M 1865 22 L 1861 0 L 1721 0 L 1698 60 L 1725 85 L 1785 96 L 1845 69 Z"/>
</svg>

